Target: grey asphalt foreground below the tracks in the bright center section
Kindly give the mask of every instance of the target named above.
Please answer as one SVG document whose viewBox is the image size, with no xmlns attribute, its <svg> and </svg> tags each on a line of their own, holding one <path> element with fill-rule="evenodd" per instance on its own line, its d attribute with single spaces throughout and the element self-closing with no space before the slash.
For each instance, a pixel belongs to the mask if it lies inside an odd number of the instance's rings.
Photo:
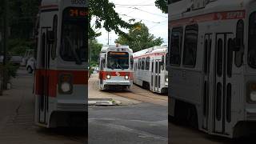
<svg viewBox="0 0 256 144">
<path fill-rule="evenodd" d="M 140 103 L 131 106 L 89 108 L 90 144 L 167 144 L 167 106 Z"/>
</svg>

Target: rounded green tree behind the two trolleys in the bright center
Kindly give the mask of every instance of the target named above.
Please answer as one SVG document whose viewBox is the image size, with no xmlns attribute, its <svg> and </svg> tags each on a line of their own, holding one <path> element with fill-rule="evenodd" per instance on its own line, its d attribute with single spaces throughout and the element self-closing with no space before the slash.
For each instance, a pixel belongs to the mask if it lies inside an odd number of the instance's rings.
<svg viewBox="0 0 256 144">
<path fill-rule="evenodd" d="M 129 30 L 128 36 L 130 39 L 119 36 L 117 43 L 130 46 L 134 52 L 143 50 L 152 46 L 162 45 L 164 42 L 162 38 L 155 38 L 153 34 L 149 33 L 148 27 L 143 23 L 136 23 L 136 27 Z"/>
</svg>

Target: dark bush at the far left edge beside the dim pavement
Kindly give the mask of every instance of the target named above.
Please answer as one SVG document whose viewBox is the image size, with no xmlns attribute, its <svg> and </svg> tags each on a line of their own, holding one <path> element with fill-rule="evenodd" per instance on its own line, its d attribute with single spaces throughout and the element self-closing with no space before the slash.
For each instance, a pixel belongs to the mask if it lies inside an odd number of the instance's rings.
<svg viewBox="0 0 256 144">
<path fill-rule="evenodd" d="M 18 66 L 14 66 L 11 62 L 7 62 L 6 66 L 0 64 L 1 90 L 7 90 L 7 83 L 10 83 L 11 78 L 16 77 L 17 70 Z M 6 84 L 4 84 L 4 81 L 6 81 Z"/>
</svg>

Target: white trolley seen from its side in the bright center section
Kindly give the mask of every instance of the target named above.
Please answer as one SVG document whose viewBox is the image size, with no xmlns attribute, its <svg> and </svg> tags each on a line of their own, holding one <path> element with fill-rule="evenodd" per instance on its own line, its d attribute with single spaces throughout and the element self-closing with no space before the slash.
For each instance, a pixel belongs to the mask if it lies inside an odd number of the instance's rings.
<svg viewBox="0 0 256 144">
<path fill-rule="evenodd" d="M 134 83 L 155 93 L 167 93 L 166 46 L 154 46 L 134 53 Z"/>
</svg>

